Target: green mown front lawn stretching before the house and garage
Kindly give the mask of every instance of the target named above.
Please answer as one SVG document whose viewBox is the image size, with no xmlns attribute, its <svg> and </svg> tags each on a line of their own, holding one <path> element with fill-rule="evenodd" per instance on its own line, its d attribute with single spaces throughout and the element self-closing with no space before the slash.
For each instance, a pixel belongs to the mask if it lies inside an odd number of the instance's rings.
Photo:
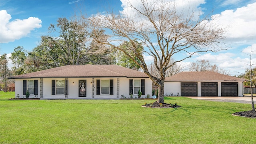
<svg viewBox="0 0 256 144">
<path fill-rule="evenodd" d="M 250 104 L 165 97 L 154 100 L 8 100 L 0 92 L 1 144 L 255 144 L 256 119 L 232 116 Z"/>
</svg>

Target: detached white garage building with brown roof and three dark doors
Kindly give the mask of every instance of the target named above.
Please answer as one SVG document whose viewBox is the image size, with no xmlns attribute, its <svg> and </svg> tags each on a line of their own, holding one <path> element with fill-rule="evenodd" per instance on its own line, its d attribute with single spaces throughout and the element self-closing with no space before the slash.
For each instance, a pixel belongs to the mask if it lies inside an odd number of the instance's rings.
<svg viewBox="0 0 256 144">
<path fill-rule="evenodd" d="M 164 94 L 180 96 L 243 96 L 242 78 L 216 72 L 180 72 L 165 78 Z"/>
</svg>

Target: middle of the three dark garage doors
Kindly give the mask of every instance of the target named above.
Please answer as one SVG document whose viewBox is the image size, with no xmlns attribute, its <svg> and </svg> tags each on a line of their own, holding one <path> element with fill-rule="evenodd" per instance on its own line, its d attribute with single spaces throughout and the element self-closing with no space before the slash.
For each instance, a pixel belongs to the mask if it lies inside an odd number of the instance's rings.
<svg viewBox="0 0 256 144">
<path fill-rule="evenodd" d="M 218 96 L 218 83 L 201 82 L 201 96 Z"/>
</svg>

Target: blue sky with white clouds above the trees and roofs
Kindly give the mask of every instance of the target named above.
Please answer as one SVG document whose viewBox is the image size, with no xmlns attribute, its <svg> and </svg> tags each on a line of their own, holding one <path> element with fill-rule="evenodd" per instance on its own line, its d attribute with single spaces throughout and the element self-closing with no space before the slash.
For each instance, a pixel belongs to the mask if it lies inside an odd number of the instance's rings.
<svg viewBox="0 0 256 144">
<path fill-rule="evenodd" d="M 180 64 L 187 66 L 204 59 L 228 70 L 232 76 L 240 75 L 249 68 L 251 50 L 255 50 L 252 58 L 256 64 L 256 0 L 187 1 L 182 0 L 181 5 L 195 5 L 207 14 L 214 10 L 212 15 L 219 16 L 216 24 L 228 26 L 225 42 L 230 48 L 197 54 Z M 56 24 L 60 17 L 70 18 L 80 10 L 88 16 L 109 8 L 119 12 L 125 7 L 125 0 L 0 0 L 0 54 L 10 55 L 17 46 L 31 51 L 40 42 L 40 36 L 48 35 L 50 24 Z M 145 57 L 150 62 L 150 57 Z"/>
</svg>

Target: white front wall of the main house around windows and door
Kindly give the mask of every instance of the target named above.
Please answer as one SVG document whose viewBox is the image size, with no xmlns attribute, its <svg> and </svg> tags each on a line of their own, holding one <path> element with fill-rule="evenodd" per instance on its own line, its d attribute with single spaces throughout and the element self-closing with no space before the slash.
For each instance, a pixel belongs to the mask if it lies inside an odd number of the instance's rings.
<svg viewBox="0 0 256 144">
<path fill-rule="evenodd" d="M 96 94 L 96 80 L 113 80 L 114 82 L 114 91 L 113 95 L 97 95 Z M 119 98 L 124 94 L 126 98 L 129 97 L 129 80 L 145 80 L 145 95 L 142 95 L 143 98 L 146 97 L 146 94 L 150 94 L 152 97 L 152 81 L 150 78 L 119 78 Z M 20 98 L 23 96 L 23 80 L 38 80 L 38 98 L 40 98 L 40 78 L 31 78 L 31 79 L 16 79 L 15 80 L 15 94 L 19 94 Z M 65 98 L 65 95 L 52 95 L 52 80 L 65 80 L 65 78 L 43 78 L 43 98 Z M 86 80 L 86 97 L 79 97 L 78 95 L 78 83 L 79 80 Z M 73 84 L 74 82 L 74 84 Z M 68 78 L 68 98 L 92 98 L 92 78 Z M 34 95 L 30 95 L 32 98 Z M 136 95 L 134 95 L 135 98 Z M 138 98 L 138 96 L 136 96 Z M 94 98 L 117 98 L 117 78 L 94 78 Z"/>
</svg>

